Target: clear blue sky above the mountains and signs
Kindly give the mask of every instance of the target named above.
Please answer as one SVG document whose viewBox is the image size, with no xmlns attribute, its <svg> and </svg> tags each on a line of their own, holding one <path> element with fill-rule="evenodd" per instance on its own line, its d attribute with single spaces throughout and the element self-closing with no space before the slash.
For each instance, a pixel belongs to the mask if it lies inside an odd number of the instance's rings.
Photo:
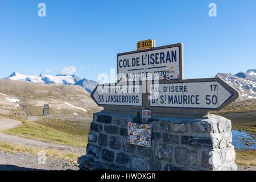
<svg viewBox="0 0 256 182">
<path fill-rule="evenodd" d="M 46 4 L 46 17 L 38 4 Z M 209 3 L 217 17 L 209 17 Z M 256 1 L 0 1 L 0 77 L 76 68 L 97 80 L 139 40 L 184 44 L 184 77 L 256 69 Z"/>
</svg>

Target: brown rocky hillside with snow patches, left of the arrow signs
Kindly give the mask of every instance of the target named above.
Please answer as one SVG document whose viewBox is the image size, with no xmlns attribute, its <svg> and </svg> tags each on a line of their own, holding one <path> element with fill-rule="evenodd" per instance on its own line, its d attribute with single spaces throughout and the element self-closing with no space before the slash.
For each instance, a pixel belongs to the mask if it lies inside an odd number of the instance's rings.
<svg viewBox="0 0 256 182">
<path fill-rule="evenodd" d="M 100 109 L 81 86 L 0 80 L 0 114 L 42 115 L 44 104 L 62 116 L 89 116 Z"/>
</svg>

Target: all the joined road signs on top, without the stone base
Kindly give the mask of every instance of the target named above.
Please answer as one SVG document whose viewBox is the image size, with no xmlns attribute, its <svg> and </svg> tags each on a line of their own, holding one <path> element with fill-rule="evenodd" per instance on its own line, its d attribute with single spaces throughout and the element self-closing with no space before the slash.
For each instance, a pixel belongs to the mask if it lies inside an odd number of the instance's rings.
<svg viewBox="0 0 256 182">
<path fill-rule="evenodd" d="M 155 44 L 150 39 L 137 46 L 148 48 L 149 42 Z M 181 43 L 118 53 L 117 68 L 117 73 L 122 73 L 118 83 L 99 84 L 91 94 L 107 113 L 136 115 L 146 109 L 154 117 L 200 118 L 239 97 L 237 90 L 221 78 L 183 80 Z"/>
</svg>

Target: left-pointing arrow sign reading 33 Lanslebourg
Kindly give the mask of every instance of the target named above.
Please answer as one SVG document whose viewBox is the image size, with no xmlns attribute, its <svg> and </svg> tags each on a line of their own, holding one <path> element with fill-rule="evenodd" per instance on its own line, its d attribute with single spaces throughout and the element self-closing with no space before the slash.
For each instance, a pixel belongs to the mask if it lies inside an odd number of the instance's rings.
<svg viewBox="0 0 256 182">
<path fill-rule="evenodd" d="M 142 86 L 98 84 L 91 93 L 91 97 L 99 106 L 142 106 Z"/>
</svg>

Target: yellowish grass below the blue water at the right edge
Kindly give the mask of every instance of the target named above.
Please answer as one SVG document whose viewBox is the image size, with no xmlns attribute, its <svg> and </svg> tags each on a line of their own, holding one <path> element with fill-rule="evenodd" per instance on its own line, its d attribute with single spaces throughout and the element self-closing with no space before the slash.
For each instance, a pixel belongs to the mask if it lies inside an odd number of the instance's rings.
<svg viewBox="0 0 256 182">
<path fill-rule="evenodd" d="M 256 150 L 236 150 L 238 166 L 256 166 Z"/>
</svg>

